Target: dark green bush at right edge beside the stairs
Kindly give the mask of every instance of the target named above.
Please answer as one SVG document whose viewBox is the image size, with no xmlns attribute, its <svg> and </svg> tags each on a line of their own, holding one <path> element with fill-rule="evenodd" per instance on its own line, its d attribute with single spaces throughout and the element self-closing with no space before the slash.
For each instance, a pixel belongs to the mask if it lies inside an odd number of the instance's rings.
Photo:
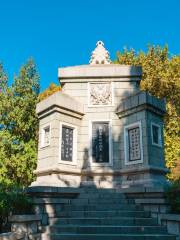
<svg viewBox="0 0 180 240">
<path fill-rule="evenodd" d="M 171 204 L 173 213 L 180 213 L 180 180 L 173 184 L 166 191 L 167 199 Z"/>
</svg>

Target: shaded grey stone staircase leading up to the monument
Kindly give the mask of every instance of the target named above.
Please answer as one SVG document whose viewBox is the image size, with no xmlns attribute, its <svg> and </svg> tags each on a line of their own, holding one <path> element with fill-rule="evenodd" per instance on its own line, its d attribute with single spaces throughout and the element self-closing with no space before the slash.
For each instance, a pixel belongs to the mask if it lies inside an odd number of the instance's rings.
<svg viewBox="0 0 180 240">
<path fill-rule="evenodd" d="M 150 212 L 114 189 L 84 188 L 77 198 L 46 211 L 49 225 L 42 240 L 176 239 Z"/>
</svg>

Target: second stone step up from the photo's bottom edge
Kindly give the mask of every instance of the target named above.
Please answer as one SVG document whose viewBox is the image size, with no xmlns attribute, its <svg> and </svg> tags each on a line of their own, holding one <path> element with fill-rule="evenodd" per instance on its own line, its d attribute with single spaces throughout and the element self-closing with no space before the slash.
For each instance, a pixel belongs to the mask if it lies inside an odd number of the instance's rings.
<svg viewBox="0 0 180 240">
<path fill-rule="evenodd" d="M 47 233 L 88 233 L 88 234 L 160 234 L 167 233 L 166 227 L 163 226 L 84 226 L 84 225 L 54 225 L 46 228 Z"/>
</svg>

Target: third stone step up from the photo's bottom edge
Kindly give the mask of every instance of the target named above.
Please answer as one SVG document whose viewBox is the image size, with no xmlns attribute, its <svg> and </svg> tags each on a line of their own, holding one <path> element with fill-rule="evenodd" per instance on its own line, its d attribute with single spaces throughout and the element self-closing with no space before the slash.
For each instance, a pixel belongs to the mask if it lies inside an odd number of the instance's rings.
<svg viewBox="0 0 180 240">
<path fill-rule="evenodd" d="M 125 226 L 156 226 L 157 219 L 143 217 L 117 217 L 117 218 L 49 218 L 50 225 L 125 225 Z"/>
</svg>

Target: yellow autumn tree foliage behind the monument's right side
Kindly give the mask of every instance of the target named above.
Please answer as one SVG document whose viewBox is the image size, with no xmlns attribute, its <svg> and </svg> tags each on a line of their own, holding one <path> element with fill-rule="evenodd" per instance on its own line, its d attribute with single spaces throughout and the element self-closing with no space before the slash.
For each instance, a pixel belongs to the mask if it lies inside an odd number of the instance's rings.
<svg viewBox="0 0 180 240">
<path fill-rule="evenodd" d="M 141 89 L 166 98 L 165 156 L 170 179 L 180 178 L 180 56 L 169 57 L 168 47 L 149 46 L 147 53 L 134 49 L 117 52 L 117 64 L 141 65 Z"/>
</svg>

